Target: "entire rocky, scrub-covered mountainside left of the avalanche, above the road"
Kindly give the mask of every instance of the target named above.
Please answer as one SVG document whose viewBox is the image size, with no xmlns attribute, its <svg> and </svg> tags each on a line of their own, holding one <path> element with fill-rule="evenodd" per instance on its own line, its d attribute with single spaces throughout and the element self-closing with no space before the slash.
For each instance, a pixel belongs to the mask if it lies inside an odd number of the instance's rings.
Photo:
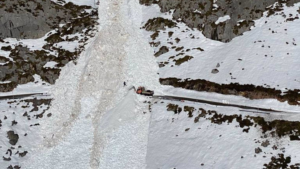
<svg viewBox="0 0 300 169">
<path fill-rule="evenodd" d="M 40 75 L 43 81 L 54 84 L 60 68 L 79 56 L 85 41 L 92 37 L 89 32 L 95 30 L 97 24 L 98 13 L 90 6 L 78 6 L 71 2 L 60 5 L 50 0 L 0 2 L 0 42 L 4 43 L 1 39 L 6 37 L 28 39 L 47 36 L 42 50 L 31 50 L 22 42 L 2 46 L 1 50 L 10 54 L 9 58 L 0 56 L 0 81 L 5 82 L 0 83 L 0 92 L 12 91 L 18 84 L 35 81 L 35 74 Z M 46 34 L 50 30 L 55 31 Z M 81 40 L 78 36 L 72 36 L 75 33 L 81 33 Z M 56 45 L 74 40 L 78 40 L 78 47 L 73 52 Z M 44 67 L 47 62 L 57 64 L 52 68 Z"/>
</svg>

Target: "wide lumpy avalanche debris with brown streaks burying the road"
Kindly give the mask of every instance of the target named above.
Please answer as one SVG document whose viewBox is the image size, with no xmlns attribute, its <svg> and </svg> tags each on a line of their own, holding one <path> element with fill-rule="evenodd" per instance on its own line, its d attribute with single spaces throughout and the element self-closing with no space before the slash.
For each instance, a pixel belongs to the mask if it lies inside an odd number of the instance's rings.
<svg viewBox="0 0 300 169">
<path fill-rule="evenodd" d="M 160 84 L 153 50 L 139 29 L 141 5 L 99 4 L 99 32 L 49 92 L 53 118 L 41 126 L 40 144 L 24 168 L 145 167 L 150 113 L 130 86 L 157 92 Z"/>
</svg>

